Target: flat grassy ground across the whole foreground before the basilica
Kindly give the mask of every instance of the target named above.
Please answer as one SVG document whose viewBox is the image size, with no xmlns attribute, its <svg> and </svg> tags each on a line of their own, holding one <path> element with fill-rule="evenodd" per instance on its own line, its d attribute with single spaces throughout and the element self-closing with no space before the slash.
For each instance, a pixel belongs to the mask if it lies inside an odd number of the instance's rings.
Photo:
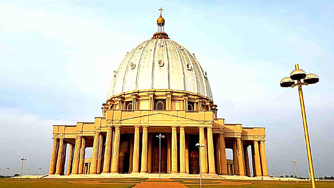
<svg viewBox="0 0 334 188">
<path fill-rule="evenodd" d="M 168 182 L 178 182 L 189 188 L 199 188 L 199 179 L 161 179 L 163 187 L 168 187 Z M 80 182 L 82 181 L 82 183 Z M 92 181 L 92 182 L 91 182 Z M 94 182 L 95 181 L 95 182 Z M 72 183 L 70 183 L 72 182 Z M 74 183 L 75 182 L 75 183 Z M 110 184 L 98 184 L 110 183 Z M 91 179 L 0 179 L 0 188 L 131 188 L 136 184 L 157 182 L 147 178 L 91 178 Z M 220 183 L 251 183 L 250 185 L 222 185 Z M 144 185 L 146 185 L 146 183 Z M 311 183 L 302 181 L 299 184 L 289 181 L 261 181 L 261 180 L 217 180 L 204 179 L 202 188 L 309 188 Z M 208 185 L 210 184 L 210 185 Z M 317 181 L 317 188 L 334 188 L 334 182 Z M 150 186 L 148 186 L 150 187 Z"/>
</svg>

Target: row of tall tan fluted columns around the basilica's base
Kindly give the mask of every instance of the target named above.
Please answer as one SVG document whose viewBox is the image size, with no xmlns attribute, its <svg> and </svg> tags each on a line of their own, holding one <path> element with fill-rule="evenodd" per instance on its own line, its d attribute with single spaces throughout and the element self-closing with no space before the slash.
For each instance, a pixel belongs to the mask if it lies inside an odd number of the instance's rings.
<svg viewBox="0 0 334 188">
<path fill-rule="evenodd" d="M 85 163 L 85 137 L 77 136 L 74 145 L 68 143 L 70 149 L 66 175 L 119 173 L 120 128 L 121 126 L 107 127 L 106 133 L 95 133 L 90 163 Z M 141 160 L 139 160 L 140 130 L 142 130 Z M 148 132 L 148 126 L 134 126 L 134 139 L 130 141 L 129 173 L 152 173 L 152 140 L 148 138 Z M 179 133 L 179 148 L 177 132 Z M 253 141 L 251 144 L 247 142 L 247 146 L 244 146 L 242 138 L 233 138 L 233 164 L 227 164 L 226 137 L 223 134 L 215 134 L 214 139 L 212 127 L 199 127 L 198 132 L 199 143 L 205 144 L 205 147 L 199 149 L 203 174 L 251 176 L 247 150 L 250 145 L 254 176 L 268 176 L 263 140 Z M 189 150 L 186 143 L 188 140 L 185 127 L 171 126 L 171 138 L 167 140 L 167 173 L 189 173 Z M 64 175 L 66 145 L 66 141 L 62 138 L 53 139 L 49 174 Z M 139 162 L 141 162 L 140 169 Z"/>
</svg>

